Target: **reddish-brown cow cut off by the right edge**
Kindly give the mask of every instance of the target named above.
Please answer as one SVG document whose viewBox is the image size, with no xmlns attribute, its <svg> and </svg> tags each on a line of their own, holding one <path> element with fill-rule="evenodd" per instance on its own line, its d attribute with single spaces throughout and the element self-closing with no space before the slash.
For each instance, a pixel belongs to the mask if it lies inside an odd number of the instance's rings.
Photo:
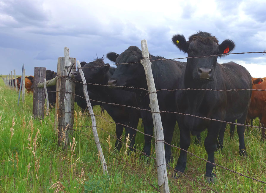
<svg viewBox="0 0 266 193">
<path fill-rule="evenodd" d="M 252 89 L 266 89 L 266 77 L 253 78 Z M 248 119 L 259 117 L 262 127 L 266 127 L 266 91 L 252 91 L 251 102 L 248 109 Z M 249 121 L 249 120 L 248 120 Z M 262 129 L 262 139 L 266 139 L 266 131 Z"/>
</svg>

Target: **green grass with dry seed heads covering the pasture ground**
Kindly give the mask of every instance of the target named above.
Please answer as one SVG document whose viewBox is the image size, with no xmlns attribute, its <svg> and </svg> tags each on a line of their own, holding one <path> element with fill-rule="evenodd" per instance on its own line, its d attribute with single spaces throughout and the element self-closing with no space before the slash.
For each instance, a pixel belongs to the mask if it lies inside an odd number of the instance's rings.
<svg viewBox="0 0 266 193">
<path fill-rule="evenodd" d="M 75 105 L 75 131 L 70 135 L 71 147 L 63 150 L 57 146 L 53 130 L 54 110 L 43 120 L 32 118 L 32 94 L 26 94 L 25 103 L 17 106 L 18 93 L 4 86 L 0 79 L 0 192 L 157 192 L 156 163 L 153 159 L 140 159 L 139 152 L 125 154 L 126 145 L 120 152 L 113 151 L 115 125 L 96 116 L 98 135 L 107 162 L 109 175 L 103 175 L 100 158 L 93 139 L 88 114 L 82 114 Z M 100 115 L 100 108 L 94 108 Z M 105 112 L 102 115 L 113 121 Z M 259 125 L 258 119 L 254 125 Z M 100 129 L 102 128 L 102 129 Z M 143 132 L 141 120 L 138 129 Z M 108 131 L 111 135 L 106 132 Z M 202 133 L 204 139 L 207 132 Z M 192 136 L 192 141 L 194 137 Z M 238 137 L 229 137 L 226 129 L 224 148 L 215 153 L 215 162 L 244 175 L 266 181 L 266 143 L 262 142 L 259 129 L 248 129 L 245 142 L 248 156 L 238 154 Z M 179 146 L 179 130 L 176 126 L 172 144 Z M 136 148 L 141 150 L 144 136 L 136 136 Z M 207 159 L 204 146 L 192 142 L 188 151 Z M 180 151 L 172 148 L 175 167 Z M 152 145 L 152 157 L 155 157 Z M 216 168 L 217 182 L 208 185 L 204 180 L 205 162 L 188 155 L 185 174 L 204 183 L 217 192 L 266 192 L 266 185 Z M 174 180 L 168 170 L 170 192 L 211 192 L 186 177 Z M 139 175 L 147 180 L 139 177 Z"/>
</svg>

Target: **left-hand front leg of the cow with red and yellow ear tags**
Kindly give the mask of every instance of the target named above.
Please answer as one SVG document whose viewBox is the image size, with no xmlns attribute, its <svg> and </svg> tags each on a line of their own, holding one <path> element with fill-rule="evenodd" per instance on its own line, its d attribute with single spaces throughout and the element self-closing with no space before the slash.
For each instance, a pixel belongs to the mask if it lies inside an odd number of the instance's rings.
<svg viewBox="0 0 266 193">
<path fill-rule="evenodd" d="M 178 122 L 178 126 L 180 131 L 180 148 L 187 151 L 190 145 L 190 130 L 188 128 L 185 128 L 184 125 L 181 125 L 180 121 Z M 182 175 L 180 172 L 182 173 L 185 172 L 186 165 L 187 165 L 187 152 L 180 150 L 180 155 L 177 160 L 177 165 L 174 168 L 176 171 L 174 171 L 172 177 L 174 179 L 180 178 L 180 176 Z"/>
</svg>

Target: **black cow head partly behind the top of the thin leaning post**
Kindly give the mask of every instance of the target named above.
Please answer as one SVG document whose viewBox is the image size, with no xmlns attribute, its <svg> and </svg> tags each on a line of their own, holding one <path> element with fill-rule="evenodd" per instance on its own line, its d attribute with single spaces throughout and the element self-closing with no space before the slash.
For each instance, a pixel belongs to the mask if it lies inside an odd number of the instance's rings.
<svg viewBox="0 0 266 193">
<path fill-rule="evenodd" d="M 109 64 L 104 64 L 103 58 L 98 58 L 92 62 L 85 64 L 82 67 L 84 77 L 87 83 L 96 83 L 102 84 L 103 78 L 110 69 Z M 75 79 L 79 82 L 82 82 L 79 71 L 73 72 Z"/>
</svg>

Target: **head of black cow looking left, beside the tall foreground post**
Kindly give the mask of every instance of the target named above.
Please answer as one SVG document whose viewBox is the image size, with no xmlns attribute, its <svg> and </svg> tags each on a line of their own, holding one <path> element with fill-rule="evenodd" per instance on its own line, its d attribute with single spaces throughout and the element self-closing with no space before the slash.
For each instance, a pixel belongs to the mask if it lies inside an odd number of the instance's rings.
<svg viewBox="0 0 266 193">
<path fill-rule="evenodd" d="M 144 68 L 140 63 L 142 59 L 142 52 L 136 46 L 130 46 L 120 55 L 114 52 L 107 54 L 107 58 L 117 65 L 117 69 L 114 74 L 109 79 L 109 85 L 113 86 L 139 86 L 145 80 L 141 80 L 141 76 L 144 75 Z M 137 63 L 136 63 L 137 62 Z M 134 63 L 134 64 L 124 64 L 124 63 Z"/>
</svg>

